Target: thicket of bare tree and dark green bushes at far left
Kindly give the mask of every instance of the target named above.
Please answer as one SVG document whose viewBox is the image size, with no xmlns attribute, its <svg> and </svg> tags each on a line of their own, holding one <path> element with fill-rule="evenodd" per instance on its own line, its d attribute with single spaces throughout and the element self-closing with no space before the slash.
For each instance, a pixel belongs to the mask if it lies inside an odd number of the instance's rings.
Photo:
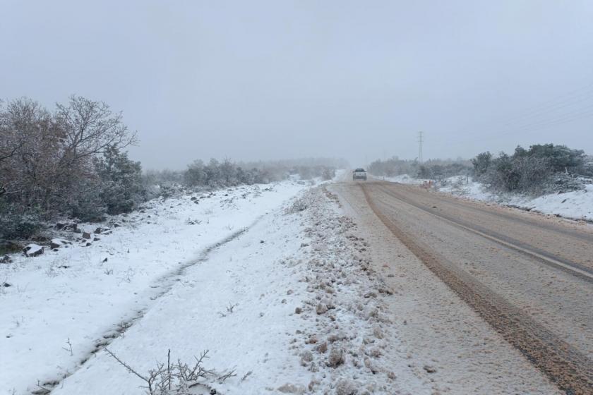
<svg viewBox="0 0 593 395">
<path fill-rule="evenodd" d="M 28 238 L 57 215 L 129 211 L 145 197 L 140 164 L 121 152 L 135 141 L 121 114 L 84 97 L 55 111 L 27 98 L 0 107 L 1 238 Z"/>
</svg>

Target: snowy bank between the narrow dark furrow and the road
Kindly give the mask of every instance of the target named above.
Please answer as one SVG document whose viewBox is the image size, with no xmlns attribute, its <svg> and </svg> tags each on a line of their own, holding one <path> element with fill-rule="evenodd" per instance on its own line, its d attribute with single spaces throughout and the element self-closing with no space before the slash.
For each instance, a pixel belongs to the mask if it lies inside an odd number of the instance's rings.
<svg viewBox="0 0 593 395">
<path fill-rule="evenodd" d="M 356 235 L 335 195 L 306 190 L 187 267 L 109 350 L 144 375 L 169 349 L 188 363 L 208 349 L 205 368 L 234 370 L 192 394 L 392 394 L 391 291 Z M 144 384 L 99 351 L 52 393 L 143 394 Z"/>
</svg>

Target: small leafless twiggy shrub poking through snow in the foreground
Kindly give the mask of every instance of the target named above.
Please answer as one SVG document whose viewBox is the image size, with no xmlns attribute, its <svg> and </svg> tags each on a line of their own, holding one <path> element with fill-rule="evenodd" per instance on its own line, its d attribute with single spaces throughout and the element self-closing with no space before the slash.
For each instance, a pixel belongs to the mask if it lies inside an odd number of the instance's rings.
<svg viewBox="0 0 593 395">
<path fill-rule="evenodd" d="M 121 360 L 107 347 L 103 347 L 103 349 L 128 372 L 146 383 L 142 388 L 148 395 L 190 395 L 193 394 L 192 388 L 194 387 L 203 387 L 212 391 L 212 382 L 222 383 L 230 377 L 236 376 L 234 370 L 219 373 L 213 369 L 206 369 L 203 363 L 208 358 L 208 350 L 200 353 L 199 358 L 194 357 L 195 361 L 192 363 L 184 363 L 179 359 L 176 363 L 172 363 L 171 350 L 169 350 L 167 364 L 157 362 L 155 369 L 149 370 L 147 374 L 140 374 L 138 370 Z"/>
</svg>

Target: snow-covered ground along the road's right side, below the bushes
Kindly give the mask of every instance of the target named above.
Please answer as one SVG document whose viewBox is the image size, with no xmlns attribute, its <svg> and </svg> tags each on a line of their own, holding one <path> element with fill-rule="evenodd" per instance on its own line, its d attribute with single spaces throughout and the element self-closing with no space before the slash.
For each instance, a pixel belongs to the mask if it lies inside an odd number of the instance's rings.
<svg viewBox="0 0 593 395">
<path fill-rule="evenodd" d="M 409 183 L 421 185 L 424 181 L 412 178 L 407 174 L 397 177 L 385 178 L 396 183 Z M 567 193 L 553 193 L 540 197 L 526 197 L 522 195 L 495 195 L 484 189 L 481 183 L 473 181 L 466 176 L 455 176 L 445 180 L 443 186 L 438 186 L 441 192 L 452 193 L 474 200 L 497 202 L 501 205 L 510 205 L 528 209 L 542 214 L 553 214 L 575 220 L 593 221 L 593 185 L 588 184 L 585 190 L 575 190 Z"/>
</svg>

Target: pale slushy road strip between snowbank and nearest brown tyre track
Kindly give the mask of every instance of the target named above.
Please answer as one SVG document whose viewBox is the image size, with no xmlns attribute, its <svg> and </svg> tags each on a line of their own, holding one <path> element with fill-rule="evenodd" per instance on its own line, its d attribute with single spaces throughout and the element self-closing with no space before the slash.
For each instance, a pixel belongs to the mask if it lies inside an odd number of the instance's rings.
<svg viewBox="0 0 593 395">
<path fill-rule="evenodd" d="M 395 290 L 394 358 L 407 358 L 433 394 L 561 393 L 378 221 L 361 188 L 337 183 L 330 190 L 369 242 L 371 265 Z"/>
</svg>

